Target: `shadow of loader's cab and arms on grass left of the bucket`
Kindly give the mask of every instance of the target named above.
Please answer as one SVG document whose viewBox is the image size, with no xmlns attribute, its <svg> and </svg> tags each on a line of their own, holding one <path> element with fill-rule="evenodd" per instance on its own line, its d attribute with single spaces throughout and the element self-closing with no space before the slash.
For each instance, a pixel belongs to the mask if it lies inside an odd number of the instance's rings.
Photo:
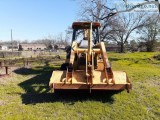
<svg viewBox="0 0 160 120">
<path fill-rule="evenodd" d="M 54 68 L 45 66 L 38 69 L 20 68 L 14 72 L 26 78 L 28 76 L 29 79 L 18 84 L 26 91 L 26 94 L 40 94 L 50 91 L 48 84 L 53 70 Z"/>
</svg>

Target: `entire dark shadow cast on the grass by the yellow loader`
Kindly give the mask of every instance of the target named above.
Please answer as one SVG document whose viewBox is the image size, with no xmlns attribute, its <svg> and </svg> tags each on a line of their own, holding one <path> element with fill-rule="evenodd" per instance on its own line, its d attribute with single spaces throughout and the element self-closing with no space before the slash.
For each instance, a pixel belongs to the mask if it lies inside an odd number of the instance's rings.
<svg viewBox="0 0 160 120">
<path fill-rule="evenodd" d="M 48 86 L 52 71 L 54 67 L 44 66 L 38 69 L 20 68 L 15 70 L 16 74 L 33 75 L 34 77 L 20 83 L 26 93 L 21 94 L 23 104 L 36 104 L 45 102 L 63 102 L 67 104 L 74 104 L 75 102 L 83 102 L 87 100 L 100 101 L 104 103 L 113 103 L 113 95 L 116 91 L 59 91 L 58 93 L 51 93 Z"/>
</svg>

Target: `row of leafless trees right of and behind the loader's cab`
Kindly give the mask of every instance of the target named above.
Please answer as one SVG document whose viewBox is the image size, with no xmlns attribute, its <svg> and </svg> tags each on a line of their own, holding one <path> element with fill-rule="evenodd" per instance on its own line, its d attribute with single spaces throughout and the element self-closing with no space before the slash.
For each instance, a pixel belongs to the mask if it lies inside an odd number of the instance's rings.
<svg viewBox="0 0 160 120">
<path fill-rule="evenodd" d="M 129 0 L 128 0 L 129 1 Z M 135 9 L 127 8 L 127 0 L 122 0 L 126 5 L 124 10 L 117 10 L 109 0 L 79 0 L 79 21 L 100 22 L 101 41 L 114 43 L 120 46 L 119 52 L 125 52 L 126 46 L 132 50 L 144 47 L 148 52 L 154 51 L 160 36 L 160 17 L 155 12 L 132 12 Z M 157 0 L 137 3 L 157 5 Z"/>
</svg>

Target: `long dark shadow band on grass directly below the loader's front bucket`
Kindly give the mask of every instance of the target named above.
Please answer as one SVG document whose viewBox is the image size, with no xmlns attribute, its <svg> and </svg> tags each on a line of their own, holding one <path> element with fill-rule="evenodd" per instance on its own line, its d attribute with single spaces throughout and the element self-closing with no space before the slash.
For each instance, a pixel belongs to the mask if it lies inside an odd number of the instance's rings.
<svg viewBox="0 0 160 120">
<path fill-rule="evenodd" d="M 23 94 L 22 101 L 24 104 L 36 104 L 36 103 L 48 103 L 48 102 L 62 102 L 65 104 L 75 104 L 76 102 L 84 101 L 99 101 L 103 103 L 114 102 L 113 95 L 117 94 L 115 91 L 69 91 L 69 92 L 58 92 L 58 93 L 42 93 L 42 94 Z"/>
</svg>

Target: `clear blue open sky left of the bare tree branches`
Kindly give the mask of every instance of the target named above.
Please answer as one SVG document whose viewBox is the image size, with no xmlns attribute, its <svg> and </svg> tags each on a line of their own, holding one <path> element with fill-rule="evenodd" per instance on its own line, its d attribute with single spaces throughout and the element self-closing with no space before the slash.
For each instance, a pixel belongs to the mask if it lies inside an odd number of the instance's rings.
<svg viewBox="0 0 160 120">
<path fill-rule="evenodd" d="M 65 33 L 77 18 L 74 0 L 0 0 L 0 41 L 37 40 Z"/>
</svg>

